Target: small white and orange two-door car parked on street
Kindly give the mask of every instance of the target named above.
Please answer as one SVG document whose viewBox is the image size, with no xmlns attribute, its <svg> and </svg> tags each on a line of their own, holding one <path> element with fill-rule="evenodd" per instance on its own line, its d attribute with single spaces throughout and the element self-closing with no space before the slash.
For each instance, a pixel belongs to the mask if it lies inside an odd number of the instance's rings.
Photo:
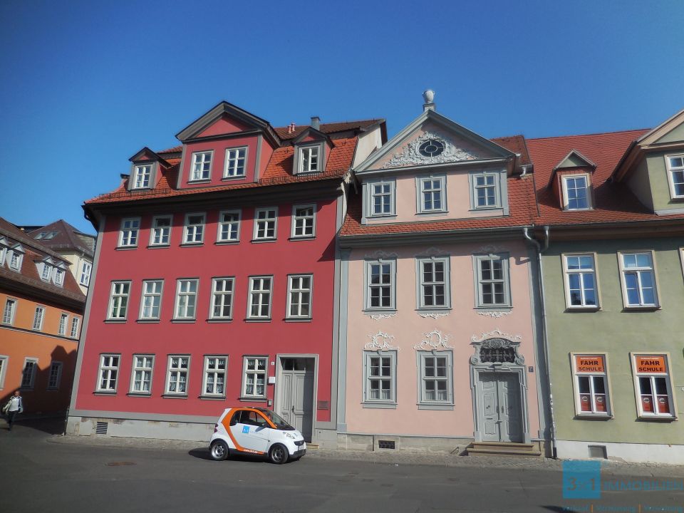
<svg viewBox="0 0 684 513">
<path fill-rule="evenodd" d="M 271 410 L 227 408 L 214 426 L 209 453 L 217 461 L 241 454 L 267 456 L 281 464 L 304 456 L 306 442 L 301 432 Z"/>
</svg>

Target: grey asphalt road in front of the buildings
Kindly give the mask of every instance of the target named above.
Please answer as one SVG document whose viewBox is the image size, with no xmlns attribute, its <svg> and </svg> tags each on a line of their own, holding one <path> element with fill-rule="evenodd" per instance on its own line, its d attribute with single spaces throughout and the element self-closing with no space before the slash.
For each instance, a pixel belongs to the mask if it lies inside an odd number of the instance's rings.
<svg viewBox="0 0 684 513">
<path fill-rule="evenodd" d="M 682 512 L 684 507 L 680 490 L 604 491 L 601 499 L 564 499 L 561 472 L 549 470 L 306 456 L 286 465 L 249 459 L 213 462 L 201 444 L 189 452 L 81 446 L 50 441 L 51 429 L 0 429 L 1 513 L 548 513 L 591 512 L 591 507 L 597 513 L 645 513 Z"/>
</svg>

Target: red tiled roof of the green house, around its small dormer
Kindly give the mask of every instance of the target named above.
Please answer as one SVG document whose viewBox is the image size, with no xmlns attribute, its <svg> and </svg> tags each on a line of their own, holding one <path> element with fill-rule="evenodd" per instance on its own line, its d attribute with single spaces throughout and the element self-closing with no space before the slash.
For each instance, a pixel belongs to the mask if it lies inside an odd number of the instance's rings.
<svg viewBox="0 0 684 513">
<path fill-rule="evenodd" d="M 528 139 L 527 147 L 534 162 L 537 198 L 541 214 L 537 223 L 589 224 L 663 219 L 641 204 L 627 185 L 608 181 L 631 142 L 647 132 L 648 130 L 626 130 L 623 132 Z M 549 180 L 551 180 L 554 167 L 571 150 L 579 151 L 596 163 L 596 170 L 591 177 L 594 187 L 594 209 L 580 212 L 564 211 L 553 190 L 549 187 Z M 678 217 L 668 216 L 665 219 L 677 219 Z"/>
</svg>

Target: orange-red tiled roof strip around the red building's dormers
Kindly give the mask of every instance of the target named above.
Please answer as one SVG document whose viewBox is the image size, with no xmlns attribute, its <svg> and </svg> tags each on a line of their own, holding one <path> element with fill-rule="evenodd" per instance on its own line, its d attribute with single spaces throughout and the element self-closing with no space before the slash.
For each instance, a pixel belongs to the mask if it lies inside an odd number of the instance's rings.
<svg viewBox="0 0 684 513">
<path fill-rule="evenodd" d="M 159 184 L 153 190 L 133 191 L 126 190 L 128 180 L 123 180 L 123 183 L 113 192 L 105 195 L 100 195 L 93 199 L 88 199 L 86 204 L 101 204 L 120 201 L 132 201 L 139 199 L 175 197 L 186 195 L 197 195 L 204 192 L 219 192 L 224 190 L 234 189 L 251 189 L 253 187 L 264 187 L 267 185 L 280 185 L 296 182 L 313 182 L 317 180 L 326 180 L 331 177 L 342 177 L 351 167 L 353 162 L 354 150 L 356 148 L 357 138 L 336 139 L 333 141 L 333 148 L 328 156 L 326 164 L 326 171 L 316 175 L 296 176 L 292 175 L 292 155 L 294 148 L 291 146 L 283 146 L 276 148 L 271 155 L 271 160 L 266 166 L 264 176 L 259 178 L 258 182 L 249 182 L 232 185 L 219 185 L 212 187 L 194 187 L 192 189 L 176 189 L 178 167 L 180 160 L 170 160 L 175 162 L 167 170 L 162 170 L 162 177 Z"/>
</svg>

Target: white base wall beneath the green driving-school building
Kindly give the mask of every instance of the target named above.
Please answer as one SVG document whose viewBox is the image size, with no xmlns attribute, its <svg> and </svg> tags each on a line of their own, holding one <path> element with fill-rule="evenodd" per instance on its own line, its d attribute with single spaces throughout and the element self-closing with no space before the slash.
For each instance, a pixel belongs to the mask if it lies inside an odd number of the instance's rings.
<svg viewBox="0 0 684 513">
<path fill-rule="evenodd" d="M 561 460 L 589 460 L 589 446 L 605 447 L 608 460 L 684 465 L 684 445 L 556 440 L 556 455 Z"/>
</svg>

